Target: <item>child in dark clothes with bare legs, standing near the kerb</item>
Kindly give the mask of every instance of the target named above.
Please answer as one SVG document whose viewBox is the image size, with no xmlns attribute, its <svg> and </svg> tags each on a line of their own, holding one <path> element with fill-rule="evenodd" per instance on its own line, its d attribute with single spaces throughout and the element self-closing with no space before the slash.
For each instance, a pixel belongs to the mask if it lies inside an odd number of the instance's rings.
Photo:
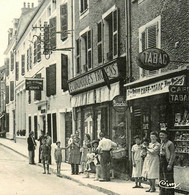
<svg viewBox="0 0 189 195">
<path fill-rule="evenodd" d="M 50 174 L 50 172 L 49 172 L 49 159 L 50 159 L 50 147 L 47 144 L 47 140 L 43 139 L 42 145 L 41 145 L 41 161 L 43 162 L 43 168 L 44 168 L 43 174 L 46 174 L 45 164 L 47 164 L 47 174 Z"/>
</svg>

